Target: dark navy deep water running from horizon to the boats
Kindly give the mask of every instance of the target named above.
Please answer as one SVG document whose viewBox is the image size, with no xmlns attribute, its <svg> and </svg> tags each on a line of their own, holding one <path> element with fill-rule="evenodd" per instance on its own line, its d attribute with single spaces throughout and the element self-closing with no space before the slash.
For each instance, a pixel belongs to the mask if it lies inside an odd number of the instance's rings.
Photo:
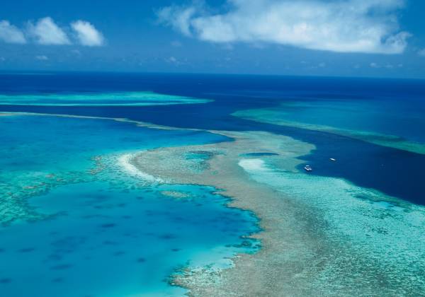
<svg viewBox="0 0 425 297">
<path fill-rule="evenodd" d="M 183 74 L 54 74 L 1 75 L 4 93 L 155 91 L 215 100 L 199 105 L 161 107 L 22 107 L 4 111 L 128 117 L 172 127 L 263 130 L 285 134 L 317 146 L 305 160 L 314 174 L 344 177 L 356 185 L 425 204 L 425 156 L 323 132 L 260 124 L 232 117 L 237 110 L 272 107 L 282 100 L 373 100 L 382 106 L 425 105 L 425 82 L 367 78 L 301 78 Z M 390 123 L 394 125 L 394 123 Z M 402 128 L 402 122 L 399 123 Z M 422 138 L 421 129 L 416 136 Z M 425 132 L 424 132 L 425 134 Z M 337 158 L 338 163 L 329 163 Z"/>
</svg>

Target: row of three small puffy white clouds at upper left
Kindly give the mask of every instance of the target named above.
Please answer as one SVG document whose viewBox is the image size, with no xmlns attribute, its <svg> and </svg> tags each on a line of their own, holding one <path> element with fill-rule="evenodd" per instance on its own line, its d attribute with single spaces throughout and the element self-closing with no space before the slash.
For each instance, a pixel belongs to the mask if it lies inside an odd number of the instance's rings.
<svg viewBox="0 0 425 297">
<path fill-rule="evenodd" d="M 73 30 L 75 37 L 67 32 Z M 71 37 L 74 37 L 72 40 Z M 103 34 L 87 21 L 74 21 L 70 28 L 61 28 L 50 17 L 40 18 L 37 22 L 28 22 L 24 29 L 11 25 L 6 20 L 0 21 L 0 41 L 24 44 L 35 42 L 39 45 L 72 45 L 97 47 L 104 44 Z M 73 42 L 74 41 L 74 42 Z"/>
</svg>

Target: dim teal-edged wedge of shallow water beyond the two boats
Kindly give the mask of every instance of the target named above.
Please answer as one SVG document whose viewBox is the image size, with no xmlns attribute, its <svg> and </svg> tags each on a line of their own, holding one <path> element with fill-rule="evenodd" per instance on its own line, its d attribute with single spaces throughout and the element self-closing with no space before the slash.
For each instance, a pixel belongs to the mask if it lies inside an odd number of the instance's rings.
<svg viewBox="0 0 425 297">
<path fill-rule="evenodd" d="M 277 107 L 240 110 L 244 119 L 328 132 L 425 154 L 425 105 L 415 98 L 283 100 Z"/>
</svg>

